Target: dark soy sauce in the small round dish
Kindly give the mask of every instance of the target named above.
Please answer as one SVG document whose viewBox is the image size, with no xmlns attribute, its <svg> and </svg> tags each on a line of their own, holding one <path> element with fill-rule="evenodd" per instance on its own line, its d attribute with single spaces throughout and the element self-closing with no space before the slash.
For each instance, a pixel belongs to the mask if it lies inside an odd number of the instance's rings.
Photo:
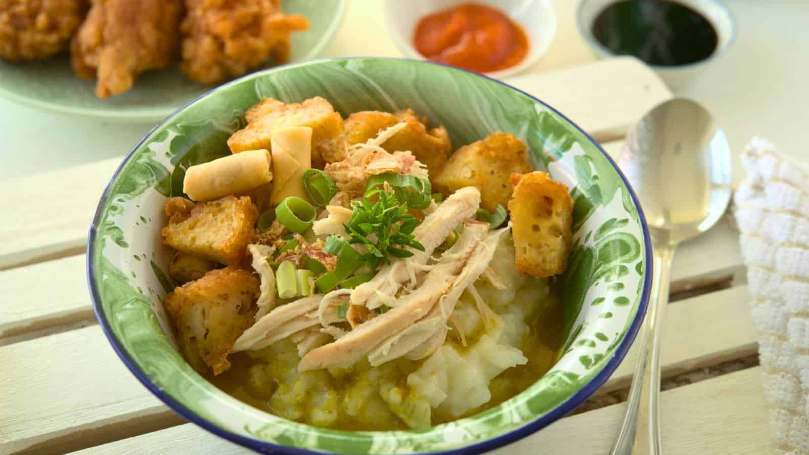
<svg viewBox="0 0 809 455">
<path fill-rule="evenodd" d="M 718 43 L 703 15 L 668 0 L 621 0 L 595 18 L 596 40 L 619 55 L 650 65 L 677 66 L 710 57 Z"/>
</svg>

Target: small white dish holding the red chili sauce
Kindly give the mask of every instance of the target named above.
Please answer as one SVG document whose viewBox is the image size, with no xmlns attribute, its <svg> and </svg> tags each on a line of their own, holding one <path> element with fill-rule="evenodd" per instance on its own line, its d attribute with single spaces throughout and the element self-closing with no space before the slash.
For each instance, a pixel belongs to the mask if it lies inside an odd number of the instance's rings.
<svg viewBox="0 0 809 455">
<path fill-rule="evenodd" d="M 528 36 L 528 53 L 515 66 L 484 73 L 493 78 L 517 74 L 536 63 L 548 52 L 557 32 L 556 11 L 551 0 L 474 0 L 503 11 L 519 23 Z M 396 46 L 407 57 L 426 60 L 413 45 L 418 21 L 426 15 L 446 10 L 469 0 L 386 0 L 385 18 Z"/>
</svg>

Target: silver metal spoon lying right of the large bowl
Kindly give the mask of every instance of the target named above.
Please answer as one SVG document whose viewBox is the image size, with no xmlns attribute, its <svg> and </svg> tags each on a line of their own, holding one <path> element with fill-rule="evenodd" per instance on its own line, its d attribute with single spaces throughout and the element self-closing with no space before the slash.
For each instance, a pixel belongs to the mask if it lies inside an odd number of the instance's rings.
<svg viewBox="0 0 809 455">
<path fill-rule="evenodd" d="M 618 167 L 637 193 L 652 239 L 654 276 L 629 407 L 611 455 L 660 455 L 660 345 L 677 245 L 707 231 L 731 199 L 731 149 L 692 100 L 659 104 L 629 132 Z"/>
</svg>

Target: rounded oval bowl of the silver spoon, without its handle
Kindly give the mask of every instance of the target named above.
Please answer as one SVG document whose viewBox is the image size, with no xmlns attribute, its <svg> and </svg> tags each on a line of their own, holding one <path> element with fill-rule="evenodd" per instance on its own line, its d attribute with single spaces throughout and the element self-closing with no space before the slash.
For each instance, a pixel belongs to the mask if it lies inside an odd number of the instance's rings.
<svg viewBox="0 0 809 455">
<path fill-rule="evenodd" d="M 659 104 L 630 131 L 618 165 L 641 201 L 652 235 L 679 242 L 711 228 L 731 200 L 731 148 L 692 100 Z"/>
</svg>

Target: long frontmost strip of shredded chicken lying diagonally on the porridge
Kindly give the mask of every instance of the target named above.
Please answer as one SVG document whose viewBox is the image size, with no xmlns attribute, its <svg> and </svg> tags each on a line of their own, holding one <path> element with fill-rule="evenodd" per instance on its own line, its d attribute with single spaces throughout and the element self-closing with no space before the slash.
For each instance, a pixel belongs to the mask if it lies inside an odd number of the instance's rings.
<svg viewBox="0 0 809 455">
<path fill-rule="evenodd" d="M 299 370 L 354 364 L 391 334 L 397 334 L 424 317 L 450 291 L 455 276 L 462 272 L 468 257 L 485 244 L 482 240 L 486 231 L 464 229 L 455 245 L 438 259 L 433 270 L 427 274 L 418 292 L 401 297 L 396 308 L 358 325 L 337 341 L 312 350 L 301 359 Z"/>
</svg>

